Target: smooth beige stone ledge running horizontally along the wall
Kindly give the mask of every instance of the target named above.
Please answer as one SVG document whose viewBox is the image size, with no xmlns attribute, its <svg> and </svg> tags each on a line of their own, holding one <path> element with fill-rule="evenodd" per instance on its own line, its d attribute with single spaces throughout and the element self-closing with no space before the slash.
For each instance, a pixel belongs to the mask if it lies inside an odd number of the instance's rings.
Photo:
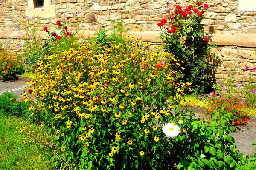
<svg viewBox="0 0 256 170">
<path fill-rule="evenodd" d="M 20 30 L 21 32 L 22 30 Z M 95 37 L 96 31 L 84 31 L 81 32 L 84 38 L 89 39 Z M 26 39 L 28 38 L 25 34 L 18 34 L 19 31 L 0 31 L 0 38 L 12 38 L 12 39 Z M 38 34 L 44 36 L 44 31 L 38 31 Z M 162 40 L 157 38 L 160 36 L 158 31 L 130 31 L 128 32 L 130 37 L 141 38 L 144 41 L 161 43 Z M 256 34 L 212 34 L 207 37 L 208 44 L 216 44 L 221 46 L 239 46 L 239 47 L 253 47 L 252 42 L 256 41 Z"/>
</svg>

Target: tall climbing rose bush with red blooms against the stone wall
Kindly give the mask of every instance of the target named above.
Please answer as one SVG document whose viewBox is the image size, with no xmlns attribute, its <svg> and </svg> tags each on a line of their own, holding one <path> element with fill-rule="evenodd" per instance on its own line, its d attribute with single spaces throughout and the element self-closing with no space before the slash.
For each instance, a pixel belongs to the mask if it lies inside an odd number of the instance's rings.
<svg viewBox="0 0 256 170">
<path fill-rule="evenodd" d="M 195 3 L 186 8 L 177 5 L 171 13 L 169 3 L 166 3 L 167 22 L 162 19 L 157 25 L 161 28 L 160 38 L 166 45 L 170 54 L 176 59 L 183 60 L 183 79 L 193 82 L 195 92 L 202 93 L 206 90 L 209 80 L 209 70 L 212 68 L 210 61 L 215 54 L 210 52 L 215 45 L 205 45 L 207 37 L 203 36 L 203 26 L 200 25 L 204 18 L 202 15 L 208 5 Z M 202 52 L 205 54 L 202 55 Z"/>
</svg>

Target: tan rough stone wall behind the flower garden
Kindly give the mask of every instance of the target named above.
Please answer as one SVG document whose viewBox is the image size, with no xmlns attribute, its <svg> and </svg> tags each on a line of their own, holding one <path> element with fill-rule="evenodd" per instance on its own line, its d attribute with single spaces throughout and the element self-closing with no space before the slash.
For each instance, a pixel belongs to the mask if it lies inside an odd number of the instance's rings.
<svg viewBox="0 0 256 170">
<path fill-rule="evenodd" d="M 5 47 L 17 51 L 17 45 L 23 45 L 23 38 L 26 37 L 23 31 L 26 16 L 39 21 L 38 30 L 45 26 L 54 30 L 57 20 L 64 20 L 64 16 L 70 17 L 69 21 L 73 25 L 84 27 L 84 37 L 93 36 L 94 31 L 100 28 L 112 28 L 111 20 L 121 20 L 132 36 L 154 43 L 161 42 L 156 38 L 160 32 L 157 23 L 166 17 L 165 0 L 44 2 L 47 4 L 45 8 L 34 9 L 32 0 L 0 0 L 0 38 Z M 180 6 L 187 6 L 188 2 L 189 0 L 180 0 Z M 256 6 L 247 10 L 242 4 L 246 0 L 205 0 L 204 3 L 209 5 L 204 13 L 205 19 L 201 22 L 204 35 L 207 36 L 208 43 L 219 46 L 214 51 L 217 57 L 213 62 L 216 66 L 213 79 L 223 84 L 228 71 L 234 70 L 237 72 L 238 83 L 247 81 L 250 71 L 245 70 L 244 66 L 256 67 Z M 239 8 L 244 11 L 238 10 Z M 49 17 L 51 15 L 54 17 Z M 19 34 L 20 32 L 23 34 Z M 237 68 L 238 62 L 244 64 Z"/>
</svg>

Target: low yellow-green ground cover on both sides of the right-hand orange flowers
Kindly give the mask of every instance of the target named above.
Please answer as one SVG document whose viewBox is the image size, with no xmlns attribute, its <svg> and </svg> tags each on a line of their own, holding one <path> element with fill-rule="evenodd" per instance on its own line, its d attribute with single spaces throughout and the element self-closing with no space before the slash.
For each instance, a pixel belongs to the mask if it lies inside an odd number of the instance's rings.
<svg viewBox="0 0 256 170">
<path fill-rule="evenodd" d="M 191 100 L 194 102 L 193 106 L 201 107 L 201 108 L 209 108 L 209 103 L 204 100 L 204 97 L 198 97 L 197 95 L 187 95 L 185 96 L 186 100 Z M 255 107 L 246 107 L 241 108 L 241 111 L 244 113 L 248 113 L 250 116 L 256 116 L 256 108 Z"/>
</svg>

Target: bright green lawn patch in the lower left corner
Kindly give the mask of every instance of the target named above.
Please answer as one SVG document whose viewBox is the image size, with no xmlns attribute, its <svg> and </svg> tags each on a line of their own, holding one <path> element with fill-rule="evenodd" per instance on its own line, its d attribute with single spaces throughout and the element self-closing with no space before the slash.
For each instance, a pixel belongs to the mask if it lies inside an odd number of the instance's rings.
<svg viewBox="0 0 256 170">
<path fill-rule="evenodd" d="M 1 170 L 50 170 L 49 154 L 40 147 L 22 141 L 25 134 L 16 129 L 21 119 L 5 116 L 0 112 L 0 169 Z M 39 154 L 42 154 L 39 158 Z"/>
</svg>

